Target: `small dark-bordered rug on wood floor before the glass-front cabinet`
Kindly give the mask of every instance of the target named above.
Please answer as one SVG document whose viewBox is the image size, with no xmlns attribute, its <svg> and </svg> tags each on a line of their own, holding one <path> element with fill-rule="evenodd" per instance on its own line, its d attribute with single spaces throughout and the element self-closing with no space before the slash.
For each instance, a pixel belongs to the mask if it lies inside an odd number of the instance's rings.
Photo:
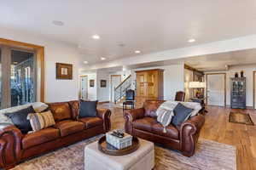
<svg viewBox="0 0 256 170">
<path fill-rule="evenodd" d="M 254 125 L 251 116 L 247 113 L 230 112 L 229 122 L 235 122 L 246 125 Z"/>
</svg>

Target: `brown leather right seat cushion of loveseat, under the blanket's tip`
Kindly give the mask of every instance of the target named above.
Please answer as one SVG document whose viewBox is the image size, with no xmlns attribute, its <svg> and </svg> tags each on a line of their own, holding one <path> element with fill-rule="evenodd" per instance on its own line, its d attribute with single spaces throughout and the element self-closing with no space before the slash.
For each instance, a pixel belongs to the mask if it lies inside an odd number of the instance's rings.
<svg viewBox="0 0 256 170">
<path fill-rule="evenodd" d="M 160 123 L 156 123 L 152 127 L 152 132 L 160 136 L 165 136 L 172 139 L 178 139 L 178 130 L 172 124 L 166 127 L 166 133 L 163 133 L 164 127 Z"/>
</svg>

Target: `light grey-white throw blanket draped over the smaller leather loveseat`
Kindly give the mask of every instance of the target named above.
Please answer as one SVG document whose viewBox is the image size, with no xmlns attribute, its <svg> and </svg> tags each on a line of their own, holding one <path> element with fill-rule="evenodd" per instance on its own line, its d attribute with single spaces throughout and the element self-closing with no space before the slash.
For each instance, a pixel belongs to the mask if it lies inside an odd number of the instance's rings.
<svg viewBox="0 0 256 170">
<path fill-rule="evenodd" d="M 196 116 L 201 110 L 201 104 L 196 102 L 178 102 L 178 101 L 166 101 L 160 105 L 156 111 L 157 122 L 164 127 L 163 133 L 166 133 L 166 127 L 172 122 L 172 116 L 174 116 L 173 110 L 178 103 L 193 109 L 191 116 Z M 189 118 L 189 117 L 188 117 Z M 186 121 L 186 120 L 184 120 Z"/>
</svg>

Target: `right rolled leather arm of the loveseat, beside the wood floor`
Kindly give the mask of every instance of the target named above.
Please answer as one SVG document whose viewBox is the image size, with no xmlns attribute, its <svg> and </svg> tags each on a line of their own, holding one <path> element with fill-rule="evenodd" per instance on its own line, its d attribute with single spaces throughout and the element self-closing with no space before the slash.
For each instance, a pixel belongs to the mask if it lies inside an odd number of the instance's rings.
<svg viewBox="0 0 256 170">
<path fill-rule="evenodd" d="M 199 138 L 201 127 L 204 125 L 205 117 L 202 115 L 193 116 L 183 122 L 180 128 L 180 147 L 184 156 L 193 156 L 195 144 Z"/>
</svg>

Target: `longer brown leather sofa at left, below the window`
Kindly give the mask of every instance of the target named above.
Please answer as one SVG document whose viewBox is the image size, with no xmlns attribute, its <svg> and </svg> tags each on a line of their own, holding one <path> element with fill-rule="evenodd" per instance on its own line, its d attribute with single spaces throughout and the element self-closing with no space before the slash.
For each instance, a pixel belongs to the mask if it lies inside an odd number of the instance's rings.
<svg viewBox="0 0 256 170">
<path fill-rule="evenodd" d="M 55 126 L 22 134 L 14 125 L 0 123 L 0 167 L 9 169 L 29 157 L 55 150 L 110 129 L 111 111 L 98 109 L 97 117 L 77 119 L 79 101 L 50 103 Z"/>
</svg>

